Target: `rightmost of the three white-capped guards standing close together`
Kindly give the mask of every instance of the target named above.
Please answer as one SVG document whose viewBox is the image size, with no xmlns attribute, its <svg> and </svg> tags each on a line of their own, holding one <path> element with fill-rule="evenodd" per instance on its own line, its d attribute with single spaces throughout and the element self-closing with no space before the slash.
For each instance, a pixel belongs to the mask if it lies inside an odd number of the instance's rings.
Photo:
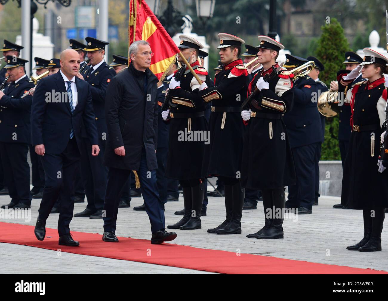
<svg viewBox="0 0 388 301">
<path fill-rule="evenodd" d="M 263 70 L 249 84 L 248 95 L 253 92 L 255 97 L 241 112 L 248 123 L 241 176 L 244 187 L 262 191 L 265 224 L 247 237 L 283 238 L 284 186 L 295 183 L 295 171 L 282 118 L 293 108 L 294 89 L 292 74 L 281 71 L 276 62 L 284 46 L 268 36 L 258 36 L 258 40 L 258 62 Z"/>
</svg>

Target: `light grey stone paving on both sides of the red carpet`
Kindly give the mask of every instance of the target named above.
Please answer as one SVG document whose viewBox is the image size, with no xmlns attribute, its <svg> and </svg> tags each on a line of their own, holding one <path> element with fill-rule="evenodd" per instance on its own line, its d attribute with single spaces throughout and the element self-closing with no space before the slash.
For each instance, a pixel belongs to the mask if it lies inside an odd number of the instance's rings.
<svg viewBox="0 0 388 301">
<path fill-rule="evenodd" d="M 8 196 L 0 197 L 0 205 L 10 202 Z M 347 245 L 357 243 L 363 236 L 362 212 L 359 210 L 333 209 L 340 198 L 321 197 L 319 206 L 313 207 L 313 214 L 299 215 L 298 220 L 284 221 L 284 239 L 259 240 L 246 238 L 246 234 L 255 233 L 264 222 L 262 203 L 257 210 L 244 210 L 242 215 L 242 234 L 208 234 L 206 230 L 218 226 L 225 217 L 223 198 L 209 198 L 208 215 L 201 218 L 202 229 L 194 231 L 176 230 L 177 239 L 172 243 L 198 248 L 210 248 L 256 255 L 274 256 L 308 262 L 345 265 L 358 268 L 372 268 L 388 271 L 388 221 L 382 233 L 381 252 L 359 252 L 346 250 Z M 149 219 L 144 211 L 135 211 L 133 207 L 143 203 L 142 198 L 132 198 L 131 207 L 119 209 L 117 236 L 139 239 L 151 239 Z M 0 219 L 0 222 L 14 222 L 35 226 L 40 200 L 32 201 L 30 222 L 21 219 Z M 80 212 L 86 202 L 75 204 L 74 212 Z M 166 225 L 177 222 L 180 217 L 174 215 L 183 209 L 182 194 L 179 202 L 166 204 Z M 47 227 L 56 229 L 59 214 L 50 215 Z M 70 228 L 73 231 L 103 233 L 102 219 L 73 218 Z M 31 229 L 32 231 L 32 229 Z M 0 233 L 0 236 L 12 233 Z M 74 235 L 74 239 L 77 239 Z M 82 241 L 80 241 L 82 245 Z M 151 245 L 150 245 L 151 246 Z M 188 270 L 148 263 L 130 262 L 103 257 L 61 253 L 21 245 L 0 244 L 1 273 L 13 274 L 210 274 L 197 270 Z M 275 269 L 275 267 L 274 267 Z M 290 271 L 291 273 L 293 271 Z"/>
</svg>

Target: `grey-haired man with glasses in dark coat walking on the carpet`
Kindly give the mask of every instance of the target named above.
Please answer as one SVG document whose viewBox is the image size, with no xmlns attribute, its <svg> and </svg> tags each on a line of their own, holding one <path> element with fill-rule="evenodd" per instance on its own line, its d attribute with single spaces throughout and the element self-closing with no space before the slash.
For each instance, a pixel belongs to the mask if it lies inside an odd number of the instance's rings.
<svg viewBox="0 0 388 301">
<path fill-rule="evenodd" d="M 151 222 L 151 244 L 160 244 L 175 239 L 177 234 L 165 231 L 165 214 L 156 184 L 158 79 L 149 70 L 153 53 L 148 42 L 133 42 L 129 55 L 131 64 L 128 69 L 111 80 L 106 93 L 108 135 L 104 164 L 109 167 L 109 171 L 102 239 L 118 241 L 114 232 L 120 193 L 131 171 L 137 171 L 145 211 Z"/>
</svg>

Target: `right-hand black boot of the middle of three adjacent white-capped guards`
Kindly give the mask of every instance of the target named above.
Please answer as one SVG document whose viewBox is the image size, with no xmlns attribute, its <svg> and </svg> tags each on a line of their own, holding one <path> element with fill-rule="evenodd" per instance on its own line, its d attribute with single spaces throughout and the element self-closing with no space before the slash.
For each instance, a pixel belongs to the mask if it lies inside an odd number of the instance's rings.
<svg viewBox="0 0 388 301">
<path fill-rule="evenodd" d="M 232 185 L 233 212 L 232 219 L 225 227 L 218 229 L 217 234 L 241 234 L 242 207 L 244 207 L 245 188 L 241 181 Z"/>
</svg>

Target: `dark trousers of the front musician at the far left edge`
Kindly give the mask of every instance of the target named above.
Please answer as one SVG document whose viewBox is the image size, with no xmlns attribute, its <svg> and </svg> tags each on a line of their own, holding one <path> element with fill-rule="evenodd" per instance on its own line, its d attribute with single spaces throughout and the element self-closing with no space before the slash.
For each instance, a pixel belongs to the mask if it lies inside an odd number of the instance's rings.
<svg viewBox="0 0 388 301">
<path fill-rule="evenodd" d="M 5 184 L 11 202 L 31 205 L 29 190 L 28 144 L 0 142 Z"/>
</svg>

